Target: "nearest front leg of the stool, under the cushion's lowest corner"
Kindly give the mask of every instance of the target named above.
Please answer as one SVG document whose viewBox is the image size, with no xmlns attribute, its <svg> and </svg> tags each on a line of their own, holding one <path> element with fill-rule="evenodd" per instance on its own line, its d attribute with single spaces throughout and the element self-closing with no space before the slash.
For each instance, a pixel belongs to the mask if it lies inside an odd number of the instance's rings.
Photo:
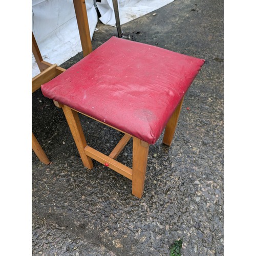
<svg viewBox="0 0 256 256">
<path fill-rule="evenodd" d="M 141 198 L 144 190 L 148 148 L 150 144 L 133 137 L 133 191 L 132 194 Z"/>
</svg>

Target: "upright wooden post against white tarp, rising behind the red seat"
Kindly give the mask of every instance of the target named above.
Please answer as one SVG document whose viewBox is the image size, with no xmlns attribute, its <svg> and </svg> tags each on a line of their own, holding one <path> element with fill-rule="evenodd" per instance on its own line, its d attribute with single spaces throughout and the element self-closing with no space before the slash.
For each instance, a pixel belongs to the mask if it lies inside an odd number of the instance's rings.
<svg viewBox="0 0 256 256">
<path fill-rule="evenodd" d="M 91 35 L 88 24 L 86 3 L 84 0 L 73 0 L 76 20 L 82 45 L 83 57 L 92 52 Z"/>
</svg>

